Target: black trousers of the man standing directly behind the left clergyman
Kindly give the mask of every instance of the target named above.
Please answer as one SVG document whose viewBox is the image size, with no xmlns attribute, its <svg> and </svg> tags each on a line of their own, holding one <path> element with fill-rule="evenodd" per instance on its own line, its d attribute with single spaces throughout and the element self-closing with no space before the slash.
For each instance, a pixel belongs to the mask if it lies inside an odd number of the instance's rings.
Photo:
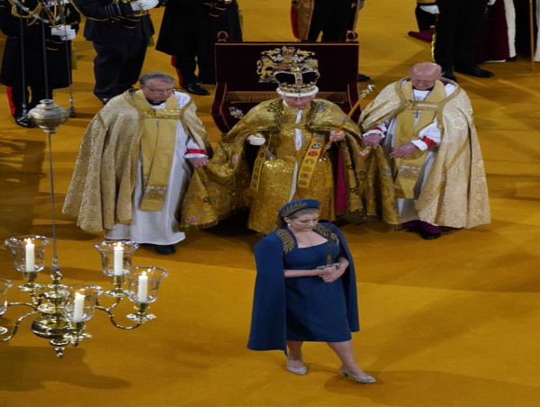
<svg viewBox="0 0 540 407">
<path fill-rule="evenodd" d="M 137 83 L 148 39 L 139 41 L 94 41 L 94 95 L 110 99 Z"/>
</svg>

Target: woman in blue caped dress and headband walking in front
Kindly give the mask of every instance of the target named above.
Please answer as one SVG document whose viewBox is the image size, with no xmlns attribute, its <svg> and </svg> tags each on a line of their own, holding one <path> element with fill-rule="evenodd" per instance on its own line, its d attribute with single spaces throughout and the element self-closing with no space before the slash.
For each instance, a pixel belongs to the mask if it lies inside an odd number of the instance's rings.
<svg viewBox="0 0 540 407">
<path fill-rule="evenodd" d="M 285 204 L 282 225 L 257 243 L 247 348 L 284 350 L 287 370 L 305 375 L 303 342 L 328 342 L 344 375 L 374 383 L 357 366 L 351 341 L 351 332 L 359 330 L 355 267 L 338 228 L 318 222 L 319 207 L 314 199 Z"/>
</svg>

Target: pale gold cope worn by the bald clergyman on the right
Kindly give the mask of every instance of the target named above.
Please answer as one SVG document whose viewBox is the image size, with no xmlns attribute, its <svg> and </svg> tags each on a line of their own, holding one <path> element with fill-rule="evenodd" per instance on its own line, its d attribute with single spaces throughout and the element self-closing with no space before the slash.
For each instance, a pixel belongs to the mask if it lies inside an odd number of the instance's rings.
<svg viewBox="0 0 540 407">
<path fill-rule="evenodd" d="M 404 80 L 386 86 L 363 111 L 363 131 L 373 129 L 411 102 L 401 93 Z M 473 107 L 464 90 L 457 87 L 436 111 L 441 142 L 437 156 L 419 194 L 419 219 L 453 228 L 473 228 L 491 222 L 488 187 L 482 152 L 473 124 Z M 366 158 L 367 166 L 387 159 L 382 148 Z M 383 167 L 390 167 L 388 163 Z"/>
</svg>

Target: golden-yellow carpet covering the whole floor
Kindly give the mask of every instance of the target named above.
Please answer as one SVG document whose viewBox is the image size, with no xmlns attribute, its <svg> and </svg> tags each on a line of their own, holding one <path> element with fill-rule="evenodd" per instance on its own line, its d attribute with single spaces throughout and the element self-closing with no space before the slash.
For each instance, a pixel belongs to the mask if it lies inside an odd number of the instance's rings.
<svg viewBox="0 0 540 407">
<path fill-rule="evenodd" d="M 288 2 L 239 4 L 245 40 L 293 40 Z M 427 43 L 407 36 L 416 29 L 413 8 L 403 0 L 370 0 L 360 13 L 360 71 L 374 78 L 378 90 L 406 76 L 412 63 L 430 58 Z M 152 17 L 158 26 L 161 11 Z M 75 46 L 77 116 L 53 136 L 59 265 L 67 284 L 82 280 L 108 288 L 93 249 L 102 235 L 80 231 L 59 212 L 81 135 L 100 108 L 92 95 L 92 44 L 79 33 Z M 168 61 L 149 50 L 145 70 L 173 74 Z M 118 330 L 97 312 L 87 324 L 94 338 L 67 348 L 63 359 L 25 321 L 11 342 L 0 342 L 0 405 L 540 405 L 540 78 L 526 59 L 486 68 L 496 77 L 458 80 L 473 101 L 491 224 L 435 241 L 375 223 L 343 227 L 358 270 L 362 331 L 354 335 L 356 353 L 377 384 L 340 376 L 338 359 L 325 344 L 306 344 L 305 376 L 286 372 L 280 352 L 247 350 L 255 277 L 251 249 L 258 236 L 243 228 L 239 216 L 190 232 L 173 256 L 148 248 L 136 252 L 135 264 L 170 272 L 151 304 L 156 321 Z M 5 95 L 0 97 L 0 238 L 50 236 L 46 135 L 15 126 Z M 211 96 L 194 99 L 212 140 L 218 140 Z M 55 101 L 67 108 L 67 89 L 56 91 Z M 1 276 L 22 284 L 7 249 L 0 256 Z M 50 256 L 49 250 L 48 264 Z M 42 274 L 39 281 L 49 278 Z M 16 287 L 9 295 L 12 302 L 26 299 Z M 124 304 L 119 314 L 130 308 Z M 27 310 L 10 307 L 0 325 L 13 325 Z"/>
</svg>

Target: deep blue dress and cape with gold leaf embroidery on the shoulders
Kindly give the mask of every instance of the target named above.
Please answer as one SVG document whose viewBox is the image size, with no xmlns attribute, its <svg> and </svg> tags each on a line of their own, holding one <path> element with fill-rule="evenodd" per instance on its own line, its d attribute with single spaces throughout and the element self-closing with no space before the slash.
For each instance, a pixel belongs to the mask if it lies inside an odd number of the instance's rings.
<svg viewBox="0 0 540 407">
<path fill-rule="evenodd" d="M 287 340 L 342 342 L 359 330 L 356 276 L 347 242 L 336 226 L 315 229 L 329 240 L 298 248 L 294 235 L 282 228 L 257 242 L 257 279 L 247 348 L 282 349 Z M 333 283 L 319 276 L 284 277 L 284 269 L 312 269 L 347 258 L 349 267 Z"/>
</svg>

